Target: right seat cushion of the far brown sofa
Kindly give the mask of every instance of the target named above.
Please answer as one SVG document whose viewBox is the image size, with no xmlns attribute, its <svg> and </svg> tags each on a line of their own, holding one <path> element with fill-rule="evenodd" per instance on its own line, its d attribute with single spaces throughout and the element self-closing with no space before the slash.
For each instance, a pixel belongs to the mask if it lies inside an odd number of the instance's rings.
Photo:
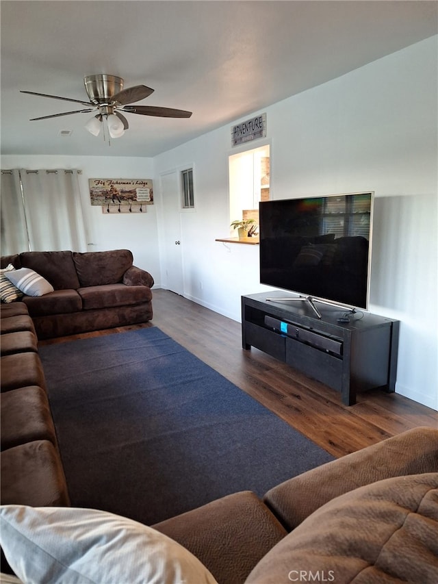
<svg viewBox="0 0 438 584">
<path fill-rule="evenodd" d="M 152 292 L 146 286 L 126 286 L 125 284 L 106 284 L 79 288 L 83 309 L 112 308 L 149 302 Z"/>
</svg>

